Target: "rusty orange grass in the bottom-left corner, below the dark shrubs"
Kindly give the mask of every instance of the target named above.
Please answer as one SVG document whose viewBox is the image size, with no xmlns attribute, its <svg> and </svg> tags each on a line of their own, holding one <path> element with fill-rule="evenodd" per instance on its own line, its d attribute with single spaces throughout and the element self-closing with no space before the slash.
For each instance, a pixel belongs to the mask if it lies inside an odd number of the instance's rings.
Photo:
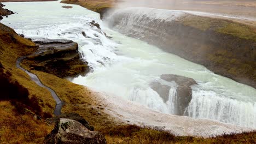
<svg viewBox="0 0 256 144">
<path fill-rule="evenodd" d="M 0 101 L 0 143 L 43 143 L 51 129 L 52 125 L 34 120 L 29 112 L 16 113 L 10 101 Z"/>
</svg>

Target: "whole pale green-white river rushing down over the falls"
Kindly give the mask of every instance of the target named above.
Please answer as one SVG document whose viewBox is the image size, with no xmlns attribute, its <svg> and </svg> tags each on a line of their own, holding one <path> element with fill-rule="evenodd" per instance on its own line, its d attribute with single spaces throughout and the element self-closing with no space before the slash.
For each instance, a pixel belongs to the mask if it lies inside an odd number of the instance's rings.
<svg viewBox="0 0 256 144">
<path fill-rule="evenodd" d="M 59 2 L 4 4 L 18 14 L 10 15 L 2 22 L 17 33 L 30 38 L 71 39 L 79 44 L 79 51 L 93 71 L 86 77 L 75 78 L 74 83 L 135 101 L 162 113 L 174 113 L 176 89 L 170 89 L 169 100 L 165 103 L 149 83 L 159 80 L 162 74 L 187 76 L 199 83 L 192 87 L 193 98 L 187 109 L 190 117 L 256 128 L 256 90 L 252 87 L 112 31 L 104 27 L 98 14 L 78 5 L 64 9 L 61 6 L 67 4 Z M 178 16 L 179 12 L 173 12 L 173 15 Z M 113 38 L 105 37 L 100 29 L 90 26 L 92 20 L 100 23 L 102 30 Z"/>
</svg>

